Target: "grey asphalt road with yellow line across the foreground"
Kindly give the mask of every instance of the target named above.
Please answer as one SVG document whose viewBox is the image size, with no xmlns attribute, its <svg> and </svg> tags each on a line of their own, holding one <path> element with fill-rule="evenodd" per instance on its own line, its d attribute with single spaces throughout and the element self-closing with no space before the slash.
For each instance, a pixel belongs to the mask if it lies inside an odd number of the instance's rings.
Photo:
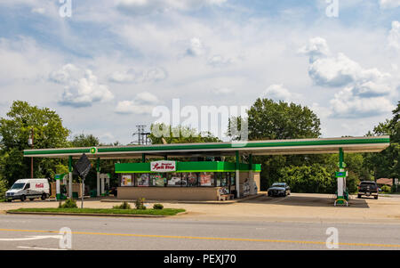
<svg viewBox="0 0 400 268">
<path fill-rule="evenodd" d="M 400 249 L 400 224 L 208 221 L 178 218 L 0 215 L 0 249 L 327 249 L 329 227 L 339 249 Z"/>
</svg>

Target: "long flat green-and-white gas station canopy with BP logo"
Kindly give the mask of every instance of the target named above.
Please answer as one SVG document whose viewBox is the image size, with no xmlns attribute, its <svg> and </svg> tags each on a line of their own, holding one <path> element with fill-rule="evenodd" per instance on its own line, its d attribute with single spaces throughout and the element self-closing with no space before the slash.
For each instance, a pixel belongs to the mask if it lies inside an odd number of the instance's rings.
<svg viewBox="0 0 400 268">
<path fill-rule="evenodd" d="M 85 148 L 37 149 L 24 150 L 24 157 L 34 158 L 79 158 L 83 153 L 88 158 L 147 158 L 160 157 L 204 157 L 252 155 L 287 155 L 287 154 L 323 154 L 379 152 L 389 146 L 388 136 L 318 138 L 296 140 L 269 140 L 251 142 L 204 142 L 172 143 L 156 145 L 101 146 Z"/>
</svg>

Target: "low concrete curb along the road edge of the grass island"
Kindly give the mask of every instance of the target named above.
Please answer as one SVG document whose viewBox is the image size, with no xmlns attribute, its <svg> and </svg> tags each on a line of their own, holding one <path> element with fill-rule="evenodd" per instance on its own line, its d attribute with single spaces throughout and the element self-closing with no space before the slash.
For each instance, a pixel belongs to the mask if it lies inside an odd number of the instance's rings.
<svg viewBox="0 0 400 268">
<path fill-rule="evenodd" d="M 187 211 L 180 212 L 176 215 L 187 214 Z M 174 215 L 135 215 L 135 214 L 94 214 L 94 213 L 55 213 L 55 212 L 25 212 L 25 211 L 6 211 L 6 214 L 22 214 L 22 215 L 77 215 L 77 216 L 111 216 L 111 217 L 132 217 L 132 218 L 164 218 Z"/>
</svg>

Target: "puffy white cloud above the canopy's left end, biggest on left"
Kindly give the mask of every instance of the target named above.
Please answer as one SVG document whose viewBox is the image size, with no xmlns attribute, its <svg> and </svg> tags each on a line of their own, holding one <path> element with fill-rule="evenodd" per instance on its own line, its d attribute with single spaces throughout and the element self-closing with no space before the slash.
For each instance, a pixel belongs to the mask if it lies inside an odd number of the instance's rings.
<svg viewBox="0 0 400 268">
<path fill-rule="evenodd" d="M 88 107 L 94 102 L 108 102 L 114 98 L 107 85 L 101 85 L 90 69 L 79 69 L 73 64 L 53 71 L 49 80 L 64 85 L 60 104 L 72 107 Z"/>
</svg>

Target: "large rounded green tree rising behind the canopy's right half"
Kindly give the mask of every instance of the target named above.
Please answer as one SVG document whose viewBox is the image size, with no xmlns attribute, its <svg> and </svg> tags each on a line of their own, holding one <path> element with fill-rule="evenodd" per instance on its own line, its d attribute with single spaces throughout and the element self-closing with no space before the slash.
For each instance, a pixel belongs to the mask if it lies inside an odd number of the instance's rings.
<svg viewBox="0 0 400 268">
<path fill-rule="evenodd" d="M 242 118 L 229 119 L 228 135 L 232 140 L 237 140 L 240 136 L 229 132 L 230 126 L 241 130 L 243 123 L 248 126 L 250 141 L 317 138 L 321 130 L 319 118 L 308 107 L 260 98 L 247 110 L 247 122 Z M 271 183 L 279 180 L 280 170 L 284 166 L 312 165 L 321 161 L 324 161 L 324 156 L 318 155 L 254 158 L 254 162 L 261 163 L 261 190 L 266 190 Z"/>
</svg>

